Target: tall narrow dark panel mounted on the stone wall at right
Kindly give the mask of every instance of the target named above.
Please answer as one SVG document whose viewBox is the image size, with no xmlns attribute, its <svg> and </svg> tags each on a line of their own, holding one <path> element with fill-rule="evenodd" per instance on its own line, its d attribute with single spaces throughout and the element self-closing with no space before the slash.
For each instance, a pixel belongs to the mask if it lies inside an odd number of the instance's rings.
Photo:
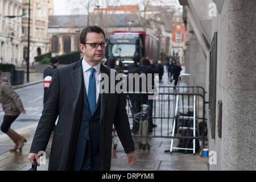
<svg viewBox="0 0 256 182">
<path fill-rule="evenodd" d="M 210 77 L 209 77 L 209 120 L 212 138 L 215 138 L 216 121 L 216 77 L 217 77 L 217 32 L 214 32 L 210 46 Z"/>
</svg>

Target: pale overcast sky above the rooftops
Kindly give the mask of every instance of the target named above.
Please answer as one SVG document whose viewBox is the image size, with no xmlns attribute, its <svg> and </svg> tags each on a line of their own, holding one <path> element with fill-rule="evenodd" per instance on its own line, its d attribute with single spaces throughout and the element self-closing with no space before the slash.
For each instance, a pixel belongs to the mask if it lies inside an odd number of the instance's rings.
<svg viewBox="0 0 256 182">
<path fill-rule="evenodd" d="M 169 1 L 174 1 L 174 4 L 179 7 L 179 1 L 178 0 L 166 0 L 167 2 Z M 72 2 L 72 0 L 69 0 L 69 2 Z M 87 2 L 87 1 L 85 1 Z M 92 0 L 93 2 L 93 0 Z M 158 2 L 158 1 L 155 1 Z M 120 0 L 120 3 L 122 5 L 135 5 L 138 4 L 138 0 Z M 53 0 L 53 5 L 54 5 L 54 15 L 72 15 L 72 14 L 86 14 L 86 11 L 76 11 L 76 13 L 74 13 L 74 11 L 72 11 L 72 7 L 70 4 L 67 5 L 67 0 Z M 91 5 L 92 6 L 92 5 Z M 90 9 L 90 11 L 93 10 Z"/>
</svg>

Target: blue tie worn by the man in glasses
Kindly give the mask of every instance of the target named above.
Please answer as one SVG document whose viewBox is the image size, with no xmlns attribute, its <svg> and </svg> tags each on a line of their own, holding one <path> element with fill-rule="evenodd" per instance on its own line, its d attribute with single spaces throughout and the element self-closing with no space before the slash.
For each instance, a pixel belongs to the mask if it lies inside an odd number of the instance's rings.
<svg viewBox="0 0 256 182">
<path fill-rule="evenodd" d="M 90 113 L 93 115 L 96 107 L 96 84 L 94 77 L 94 68 L 90 68 L 90 78 L 89 78 L 89 87 L 88 87 L 88 101 L 90 106 Z"/>
</svg>

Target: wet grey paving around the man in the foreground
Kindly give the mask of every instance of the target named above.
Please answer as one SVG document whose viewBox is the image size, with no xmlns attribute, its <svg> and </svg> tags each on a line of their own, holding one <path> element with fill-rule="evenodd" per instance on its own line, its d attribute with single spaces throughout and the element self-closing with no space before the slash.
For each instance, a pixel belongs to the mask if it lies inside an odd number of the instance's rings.
<svg viewBox="0 0 256 182">
<path fill-rule="evenodd" d="M 42 80 L 42 73 L 30 73 L 31 80 Z M 167 73 L 164 73 L 163 83 L 159 85 L 168 84 Z M 130 121 L 131 122 L 131 121 Z M 27 171 L 31 168 L 31 163 L 28 161 L 32 139 L 34 137 L 37 123 L 17 129 L 19 134 L 27 139 L 22 151 L 9 152 L 10 148 L 14 146 L 7 135 L 0 135 L 0 171 Z M 132 126 L 132 125 L 131 125 Z M 159 126 L 158 126 L 159 127 Z M 157 128 L 157 127 L 156 127 Z M 201 157 L 200 151 L 195 154 L 182 154 L 178 152 L 164 152 L 170 150 L 170 138 L 149 138 L 148 142 L 151 145 L 150 150 L 138 149 L 138 138 L 134 138 L 135 148 L 137 153 L 137 160 L 134 166 L 128 167 L 126 164 L 126 154 L 119 142 L 118 137 L 113 138 L 117 143 L 117 151 L 112 153 L 112 167 L 113 171 L 207 171 L 208 158 Z M 38 171 L 46 171 L 48 169 L 48 159 L 51 150 L 52 136 L 49 140 L 46 150 L 46 165 L 38 167 Z M 177 144 L 177 140 L 174 146 Z M 207 144 L 207 143 L 206 143 Z M 206 146 L 207 147 L 207 146 Z"/>
</svg>

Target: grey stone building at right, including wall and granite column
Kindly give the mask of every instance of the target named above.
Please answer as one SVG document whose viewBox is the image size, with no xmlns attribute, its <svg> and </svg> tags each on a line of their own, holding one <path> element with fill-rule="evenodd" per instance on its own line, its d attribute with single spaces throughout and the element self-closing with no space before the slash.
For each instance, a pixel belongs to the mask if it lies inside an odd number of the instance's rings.
<svg viewBox="0 0 256 182">
<path fill-rule="evenodd" d="M 185 69 L 209 101 L 209 169 L 255 170 L 256 1 L 179 2 L 186 11 Z"/>
</svg>

